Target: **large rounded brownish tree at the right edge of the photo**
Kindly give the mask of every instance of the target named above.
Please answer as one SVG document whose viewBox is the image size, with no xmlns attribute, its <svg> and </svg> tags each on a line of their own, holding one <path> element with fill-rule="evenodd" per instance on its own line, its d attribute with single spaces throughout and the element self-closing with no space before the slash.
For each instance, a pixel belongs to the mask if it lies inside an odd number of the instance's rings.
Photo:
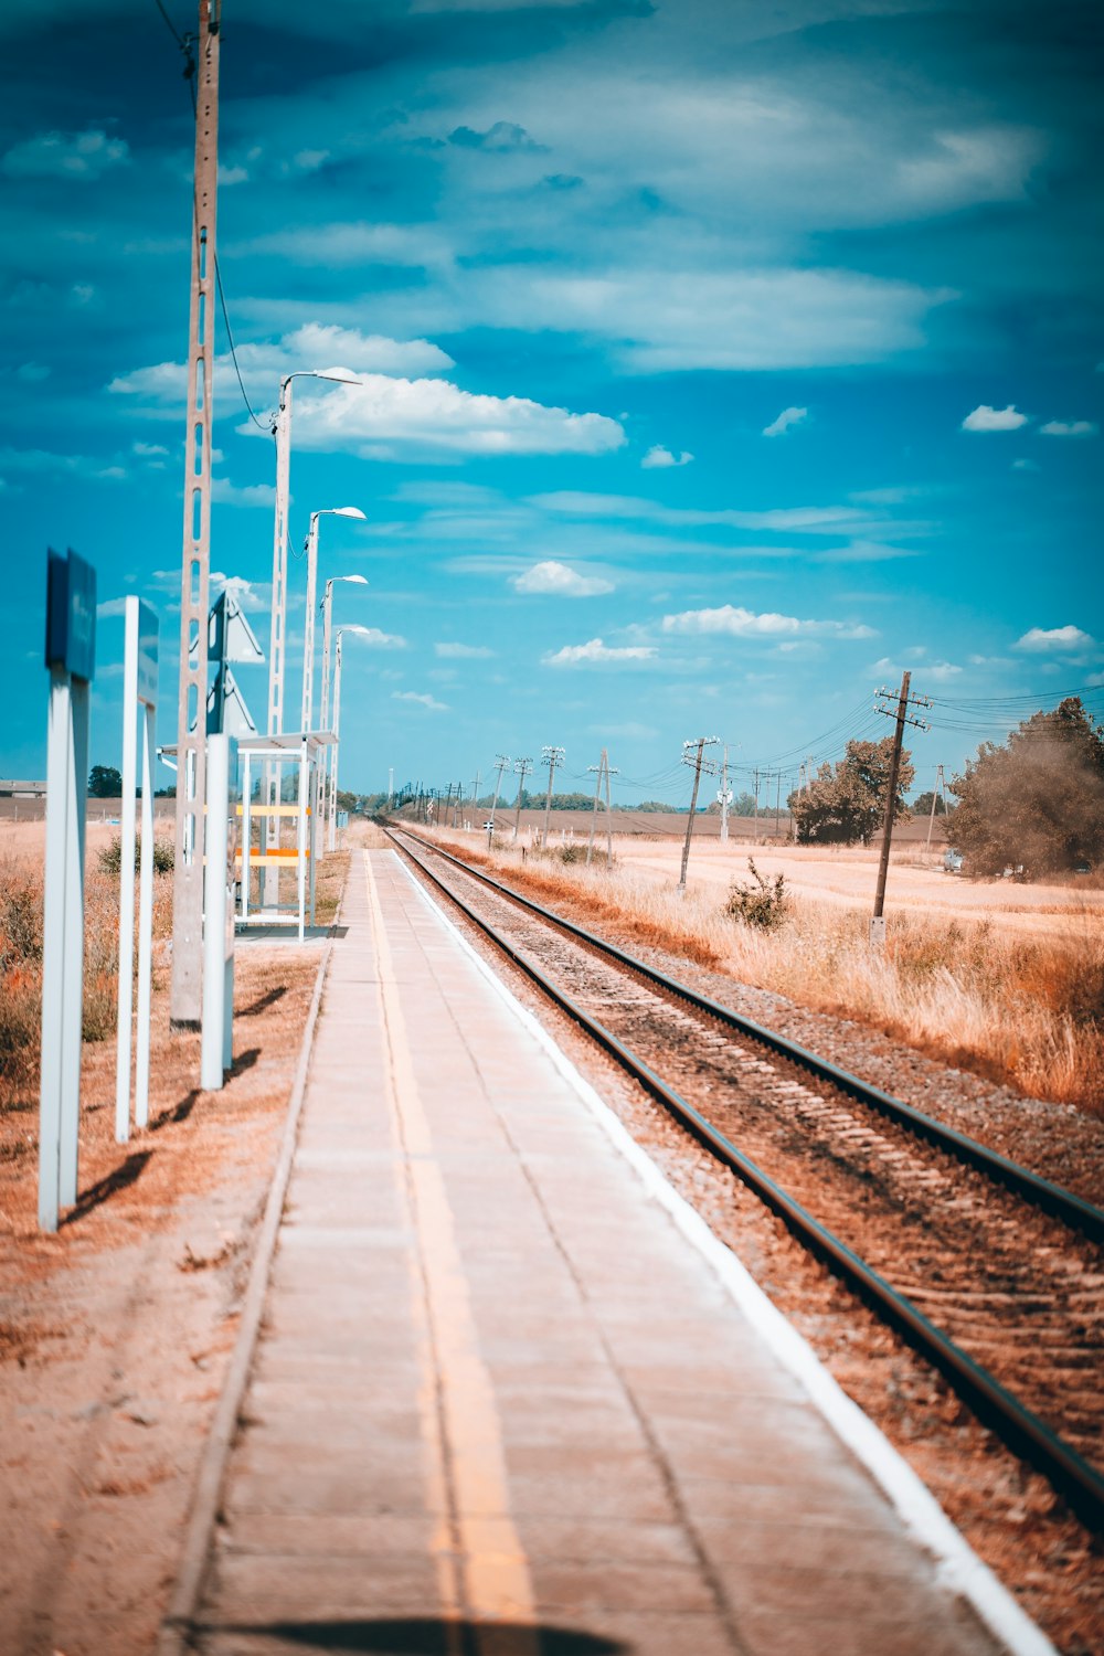
<svg viewBox="0 0 1104 1656">
<path fill-rule="evenodd" d="M 1079 696 L 1026 719 L 1001 747 L 983 742 L 950 792 L 965 873 L 1063 873 L 1104 856 L 1104 727 Z"/>
</svg>

